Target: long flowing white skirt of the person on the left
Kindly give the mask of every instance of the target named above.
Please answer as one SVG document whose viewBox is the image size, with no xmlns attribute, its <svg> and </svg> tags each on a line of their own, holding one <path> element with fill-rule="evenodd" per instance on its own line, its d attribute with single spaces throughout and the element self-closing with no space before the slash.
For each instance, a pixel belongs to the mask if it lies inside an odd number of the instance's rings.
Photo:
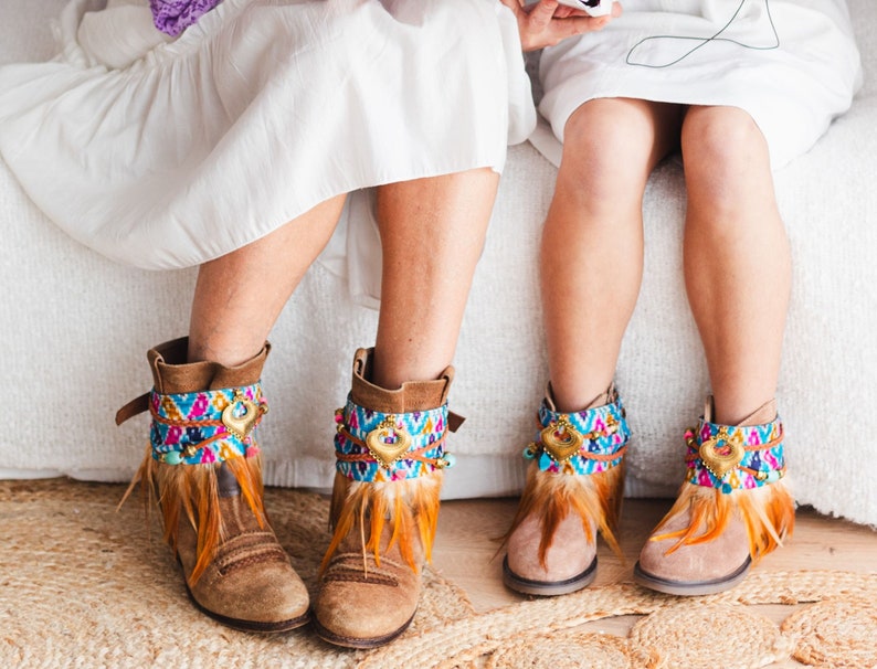
<svg viewBox="0 0 877 669">
<path fill-rule="evenodd" d="M 146 0 L 105 6 L 72 0 L 56 59 L 0 67 L 0 152 L 125 264 L 197 265 L 340 193 L 499 171 L 535 125 L 495 0 L 224 0 L 173 41 Z"/>
</svg>

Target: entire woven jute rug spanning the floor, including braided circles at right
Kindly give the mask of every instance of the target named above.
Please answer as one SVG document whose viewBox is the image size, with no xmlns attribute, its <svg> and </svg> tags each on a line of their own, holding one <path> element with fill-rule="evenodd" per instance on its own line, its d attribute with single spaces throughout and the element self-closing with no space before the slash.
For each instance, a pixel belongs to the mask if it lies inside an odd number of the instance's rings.
<svg viewBox="0 0 877 669">
<path fill-rule="evenodd" d="M 0 667 L 684 668 L 877 667 L 877 573 L 753 573 L 729 593 L 679 599 L 631 584 L 476 614 L 435 570 L 412 627 L 372 651 L 323 644 L 309 628 L 239 633 L 199 614 L 135 496 L 66 479 L 0 481 Z M 310 587 L 328 501 L 270 489 L 266 505 Z M 778 625 L 750 605 L 801 604 Z M 628 637 L 581 629 L 642 616 Z"/>
</svg>

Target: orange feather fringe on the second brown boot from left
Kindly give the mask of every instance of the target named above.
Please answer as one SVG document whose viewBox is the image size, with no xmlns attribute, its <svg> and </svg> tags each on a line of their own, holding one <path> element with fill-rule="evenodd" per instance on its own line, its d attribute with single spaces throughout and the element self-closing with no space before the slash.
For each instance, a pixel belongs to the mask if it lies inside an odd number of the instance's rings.
<svg viewBox="0 0 877 669">
<path fill-rule="evenodd" d="M 352 481 L 336 472 L 329 510 L 329 529 L 334 533 L 320 574 L 341 542 L 353 532 L 360 537 L 363 555 L 371 552 L 378 566 L 381 553 L 399 544 L 402 559 L 414 572 L 420 572 L 421 551 L 415 542 L 420 543 L 423 558 L 427 562 L 432 560 L 443 480 L 441 469 L 416 478 L 384 482 Z M 388 523 L 390 538 L 382 545 Z"/>
</svg>

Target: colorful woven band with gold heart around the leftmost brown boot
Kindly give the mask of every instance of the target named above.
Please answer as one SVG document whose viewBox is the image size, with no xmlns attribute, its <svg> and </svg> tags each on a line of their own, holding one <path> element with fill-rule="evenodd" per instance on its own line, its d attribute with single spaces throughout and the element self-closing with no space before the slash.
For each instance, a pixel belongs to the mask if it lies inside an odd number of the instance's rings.
<svg viewBox="0 0 877 669">
<path fill-rule="evenodd" d="M 252 434 L 268 411 L 262 385 L 149 395 L 152 458 L 168 465 L 208 465 L 253 457 Z"/>
</svg>

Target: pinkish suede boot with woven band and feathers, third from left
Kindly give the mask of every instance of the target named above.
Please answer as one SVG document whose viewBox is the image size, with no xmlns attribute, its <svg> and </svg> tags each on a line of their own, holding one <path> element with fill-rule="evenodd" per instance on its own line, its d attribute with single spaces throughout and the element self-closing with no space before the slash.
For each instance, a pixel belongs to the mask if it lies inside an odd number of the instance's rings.
<svg viewBox="0 0 877 669">
<path fill-rule="evenodd" d="M 603 403 L 604 402 L 604 403 Z M 621 555 L 615 529 L 631 433 L 614 389 L 584 411 L 554 411 L 550 389 L 518 511 L 506 535 L 503 581 L 517 592 L 561 595 L 596 575 L 596 530 Z"/>
</svg>

